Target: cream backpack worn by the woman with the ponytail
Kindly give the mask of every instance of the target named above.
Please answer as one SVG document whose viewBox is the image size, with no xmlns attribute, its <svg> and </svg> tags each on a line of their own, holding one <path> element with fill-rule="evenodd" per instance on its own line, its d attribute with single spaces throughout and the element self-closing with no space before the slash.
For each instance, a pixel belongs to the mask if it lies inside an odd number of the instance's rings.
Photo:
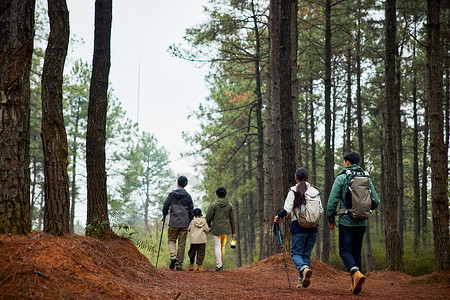
<svg viewBox="0 0 450 300">
<path fill-rule="evenodd" d="M 297 192 L 294 192 L 296 196 Z M 317 226 L 320 220 L 320 196 L 319 191 L 310 186 L 305 192 L 305 206 L 306 209 L 301 211 L 298 216 L 293 209 L 295 217 L 302 228 L 314 228 Z"/>
</svg>

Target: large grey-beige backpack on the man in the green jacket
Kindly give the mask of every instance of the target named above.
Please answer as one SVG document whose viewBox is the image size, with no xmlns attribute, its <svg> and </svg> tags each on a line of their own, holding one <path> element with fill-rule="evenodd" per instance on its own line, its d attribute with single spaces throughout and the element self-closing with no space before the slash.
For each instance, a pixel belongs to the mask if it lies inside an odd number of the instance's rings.
<svg viewBox="0 0 450 300">
<path fill-rule="evenodd" d="M 347 175 L 345 207 L 339 209 L 337 214 L 347 213 L 355 219 L 369 219 L 372 204 L 369 173 L 347 170 L 345 174 Z"/>
</svg>

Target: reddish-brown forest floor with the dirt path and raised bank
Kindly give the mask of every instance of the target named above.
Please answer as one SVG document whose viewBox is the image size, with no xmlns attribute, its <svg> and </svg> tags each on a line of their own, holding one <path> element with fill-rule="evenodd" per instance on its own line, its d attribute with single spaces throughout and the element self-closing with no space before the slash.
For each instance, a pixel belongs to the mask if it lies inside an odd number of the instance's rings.
<svg viewBox="0 0 450 300">
<path fill-rule="evenodd" d="M 347 273 L 316 260 L 311 268 L 311 285 L 296 289 L 288 259 L 290 290 L 281 253 L 223 272 L 173 271 L 117 236 L 0 235 L 0 299 L 450 299 L 450 272 L 375 271 L 354 296 Z"/>
</svg>

